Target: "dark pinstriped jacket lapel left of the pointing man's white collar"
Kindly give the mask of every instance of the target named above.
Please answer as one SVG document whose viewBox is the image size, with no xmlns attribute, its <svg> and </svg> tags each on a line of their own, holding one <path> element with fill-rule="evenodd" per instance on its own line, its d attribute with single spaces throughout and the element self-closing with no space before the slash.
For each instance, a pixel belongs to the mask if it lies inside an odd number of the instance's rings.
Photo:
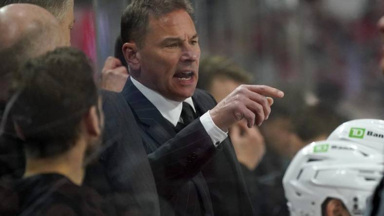
<svg viewBox="0 0 384 216">
<path fill-rule="evenodd" d="M 122 91 L 136 118 L 146 125 L 146 132 L 157 142 L 159 147 L 172 139 L 176 133 L 157 108 L 134 86 L 129 79 Z"/>
</svg>

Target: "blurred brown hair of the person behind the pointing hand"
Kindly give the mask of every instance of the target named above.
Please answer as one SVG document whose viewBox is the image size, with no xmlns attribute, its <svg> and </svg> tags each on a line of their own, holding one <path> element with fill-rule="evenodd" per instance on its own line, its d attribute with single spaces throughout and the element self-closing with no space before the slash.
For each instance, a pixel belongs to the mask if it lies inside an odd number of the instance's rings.
<svg viewBox="0 0 384 216">
<path fill-rule="evenodd" d="M 217 77 L 228 78 L 241 84 L 250 84 L 251 76 L 234 61 L 223 56 L 210 56 L 199 66 L 197 88 L 210 91 L 212 81 Z"/>
</svg>

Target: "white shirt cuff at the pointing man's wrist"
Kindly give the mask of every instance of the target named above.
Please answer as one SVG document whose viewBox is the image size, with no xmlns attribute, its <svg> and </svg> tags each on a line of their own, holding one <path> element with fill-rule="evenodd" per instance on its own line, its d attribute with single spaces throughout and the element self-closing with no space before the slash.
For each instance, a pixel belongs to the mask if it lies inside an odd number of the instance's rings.
<svg viewBox="0 0 384 216">
<path fill-rule="evenodd" d="M 217 147 L 228 137 L 228 132 L 222 131 L 218 126 L 214 124 L 209 110 L 200 117 L 200 122 L 204 129 L 207 131 L 208 135 L 210 135 L 212 143 L 215 147 Z"/>
</svg>

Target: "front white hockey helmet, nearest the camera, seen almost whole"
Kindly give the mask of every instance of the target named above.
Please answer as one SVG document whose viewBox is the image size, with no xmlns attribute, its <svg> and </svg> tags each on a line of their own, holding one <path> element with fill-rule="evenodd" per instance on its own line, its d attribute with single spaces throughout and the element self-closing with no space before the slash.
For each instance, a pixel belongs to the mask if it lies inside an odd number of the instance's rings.
<svg viewBox="0 0 384 216">
<path fill-rule="evenodd" d="M 364 215 L 384 170 L 383 150 L 369 142 L 326 140 L 301 149 L 283 179 L 291 216 L 322 216 L 327 198 L 341 200 L 352 216 Z"/>
</svg>

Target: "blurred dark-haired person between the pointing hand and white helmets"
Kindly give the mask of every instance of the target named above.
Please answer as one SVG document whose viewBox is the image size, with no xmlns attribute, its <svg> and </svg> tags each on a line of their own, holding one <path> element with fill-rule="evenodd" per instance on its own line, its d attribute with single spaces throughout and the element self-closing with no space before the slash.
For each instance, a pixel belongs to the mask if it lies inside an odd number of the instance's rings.
<svg viewBox="0 0 384 216">
<path fill-rule="evenodd" d="M 263 214 L 281 216 L 289 214 L 282 179 L 291 159 L 305 144 L 323 140 L 344 122 L 329 105 L 301 89 L 291 86 L 285 92 L 287 96 L 274 103 L 273 115 L 261 126 L 267 152 L 255 171 L 260 194 L 272 197 L 259 197 Z"/>
</svg>

